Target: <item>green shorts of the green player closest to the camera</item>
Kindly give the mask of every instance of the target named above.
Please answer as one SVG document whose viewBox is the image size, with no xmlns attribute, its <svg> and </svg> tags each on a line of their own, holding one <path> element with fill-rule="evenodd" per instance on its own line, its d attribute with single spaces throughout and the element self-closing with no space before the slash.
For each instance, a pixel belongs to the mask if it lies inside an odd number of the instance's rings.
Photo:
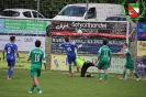
<svg viewBox="0 0 146 97">
<path fill-rule="evenodd" d="M 34 77 L 34 76 L 36 76 L 36 77 L 38 77 L 38 76 L 41 76 L 41 67 L 40 66 L 31 66 L 31 77 Z"/>
</svg>

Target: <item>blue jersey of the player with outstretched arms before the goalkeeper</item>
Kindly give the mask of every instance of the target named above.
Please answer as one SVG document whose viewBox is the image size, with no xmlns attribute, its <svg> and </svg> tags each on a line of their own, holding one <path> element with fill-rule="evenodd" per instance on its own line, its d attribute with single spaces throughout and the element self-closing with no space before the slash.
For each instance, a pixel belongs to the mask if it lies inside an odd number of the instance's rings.
<svg viewBox="0 0 146 97">
<path fill-rule="evenodd" d="M 75 47 L 77 48 L 78 45 L 71 42 L 65 42 L 60 44 L 66 50 L 68 57 L 76 57 Z"/>
</svg>

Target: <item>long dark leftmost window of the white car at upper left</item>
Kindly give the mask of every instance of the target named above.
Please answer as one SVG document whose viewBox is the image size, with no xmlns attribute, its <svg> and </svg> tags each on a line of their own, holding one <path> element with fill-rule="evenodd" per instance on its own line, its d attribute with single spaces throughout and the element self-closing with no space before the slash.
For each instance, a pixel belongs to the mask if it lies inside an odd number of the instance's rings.
<svg viewBox="0 0 146 97">
<path fill-rule="evenodd" d="M 4 11 L 2 11 L 1 15 L 3 15 L 3 17 L 19 17 L 20 12 L 12 11 L 12 10 L 4 10 Z"/>
</svg>

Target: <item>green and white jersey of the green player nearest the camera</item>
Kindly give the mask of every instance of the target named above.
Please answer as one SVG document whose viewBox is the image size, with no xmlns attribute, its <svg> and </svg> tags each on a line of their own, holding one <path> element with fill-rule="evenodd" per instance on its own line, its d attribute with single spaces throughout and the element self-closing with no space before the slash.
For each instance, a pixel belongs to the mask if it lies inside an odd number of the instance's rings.
<svg viewBox="0 0 146 97">
<path fill-rule="evenodd" d="M 42 61 L 43 63 L 46 63 L 45 53 L 38 47 L 31 50 L 29 56 L 31 57 L 32 64 L 37 64 L 42 66 Z"/>
</svg>

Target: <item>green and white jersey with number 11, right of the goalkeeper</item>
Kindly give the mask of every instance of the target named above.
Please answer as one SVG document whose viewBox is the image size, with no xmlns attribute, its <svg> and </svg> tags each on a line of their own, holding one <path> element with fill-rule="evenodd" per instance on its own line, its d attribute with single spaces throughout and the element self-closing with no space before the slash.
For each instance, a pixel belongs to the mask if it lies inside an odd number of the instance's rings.
<svg viewBox="0 0 146 97">
<path fill-rule="evenodd" d="M 100 56 L 100 61 L 109 61 L 111 56 L 109 46 L 103 45 L 102 47 L 100 47 L 98 55 Z"/>
</svg>

